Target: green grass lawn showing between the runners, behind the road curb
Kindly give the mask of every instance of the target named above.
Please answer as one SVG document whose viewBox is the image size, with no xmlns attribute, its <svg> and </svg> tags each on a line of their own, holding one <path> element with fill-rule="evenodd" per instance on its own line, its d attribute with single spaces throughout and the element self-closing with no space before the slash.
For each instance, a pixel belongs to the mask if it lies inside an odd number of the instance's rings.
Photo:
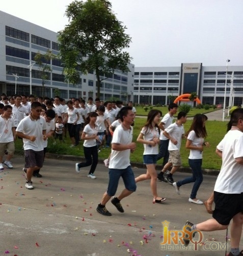
<svg viewBox="0 0 243 256">
<path fill-rule="evenodd" d="M 164 111 L 164 113 L 166 112 Z M 144 118 L 136 118 L 135 125 L 133 127 L 133 142 L 136 142 L 137 137 L 141 131 L 141 128 L 145 124 L 145 122 L 146 122 L 146 119 Z M 188 130 L 191 123 L 192 123 L 192 120 L 187 120 L 187 122 L 184 124 L 185 131 Z M 202 167 L 204 169 L 219 170 L 221 167 L 221 158 L 219 158 L 218 155 L 215 153 L 215 149 L 226 133 L 226 123 L 220 122 L 220 121 L 207 121 L 206 129 L 208 134 L 206 141 L 210 143 L 210 147 L 205 148 L 203 151 Z M 64 154 L 64 155 L 84 156 L 83 142 L 80 142 L 80 144 L 74 148 L 70 148 L 69 146 L 71 145 L 71 141 L 68 135 L 67 135 L 67 138 L 64 138 L 64 139 L 65 139 L 65 143 L 60 144 L 59 141 L 55 143 L 55 139 L 49 138 L 47 152 Z M 15 145 L 16 145 L 15 154 L 23 154 L 22 141 L 20 139 L 17 139 L 17 142 Z M 144 151 L 143 144 L 137 143 L 136 151 L 134 151 L 134 153 L 132 153 L 130 157 L 131 162 L 143 162 L 143 151 Z M 102 149 L 101 152 L 99 153 L 99 158 L 101 159 L 107 158 L 110 152 L 111 152 L 110 148 Z M 184 167 L 187 167 L 188 155 L 190 153 L 190 150 L 185 148 L 185 139 L 182 140 L 180 153 L 182 158 L 182 164 Z M 158 165 L 161 165 L 162 161 L 163 159 L 160 159 L 158 161 Z"/>
</svg>

